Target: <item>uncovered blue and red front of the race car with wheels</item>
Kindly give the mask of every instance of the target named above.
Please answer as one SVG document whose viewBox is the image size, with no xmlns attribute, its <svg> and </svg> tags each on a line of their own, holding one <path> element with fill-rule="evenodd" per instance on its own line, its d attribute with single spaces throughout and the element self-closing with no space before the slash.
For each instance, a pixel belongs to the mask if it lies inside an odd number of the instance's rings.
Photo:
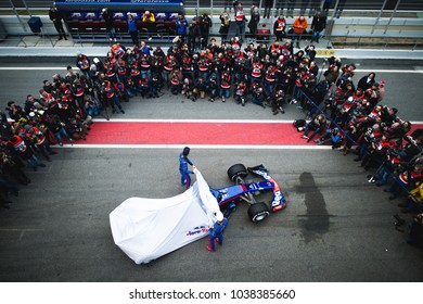
<svg viewBox="0 0 423 304">
<path fill-rule="evenodd" d="M 248 175 L 248 172 L 261 176 L 265 180 L 246 183 L 244 178 Z M 236 201 L 245 201 L 249 204 L 248 216 L 251 220 L 260 221 L 266 219 L 270 214 L 268 205 L 264 202 L 257 202 L 254 198 L 254 195 L 259 194 L 262 190 L 273 191 L 273 199 L 271 201 L 271 211 L 273 213 L 286 207 L 286 201 L 281 188 L 269 175 L 268 169 L 264 165 L 246 168 L 243 164 L 236 164 L 228 169 L 228 176 L 235 185 L 221 189 L 210 188 L 226 217 L 235 211 Z"/>
</svg>

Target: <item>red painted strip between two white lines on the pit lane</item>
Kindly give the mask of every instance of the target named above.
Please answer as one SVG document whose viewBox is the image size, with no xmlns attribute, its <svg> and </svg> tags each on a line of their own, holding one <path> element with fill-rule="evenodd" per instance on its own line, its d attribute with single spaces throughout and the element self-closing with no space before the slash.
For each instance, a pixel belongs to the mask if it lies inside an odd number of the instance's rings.
<svg viewBox="0 0 423 304">
<path fill-rule="evenodd" d="M 421 128 L 423 125 L 413 126 Z M 95 122 L 78 144 L 303 145 L 292 123 Z"/>
</svg>

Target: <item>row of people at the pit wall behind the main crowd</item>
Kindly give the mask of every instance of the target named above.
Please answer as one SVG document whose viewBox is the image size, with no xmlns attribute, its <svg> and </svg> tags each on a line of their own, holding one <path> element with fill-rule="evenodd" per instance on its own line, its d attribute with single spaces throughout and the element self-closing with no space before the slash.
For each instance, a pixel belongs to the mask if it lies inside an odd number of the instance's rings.
<svg viewBox="0 0 423 304">
<path fill-rule="evenodd" d="M 248 27 L 248 36 L 251 39 L 269 40 L 271 35 L 270 30 L 259 29 L 261 17 L 257 5 L 251 7 L 249 15 L 247 15 L 247 12 L 244 10 L 241 1 L 233 1 L 233 9 L 234 12 L 232 16 L 228 12 L 223 12 L 219 16 L 219 34 L 221 41 L 228 42 L 229 33 L 233 33 L 233 36 L 239 37 L 239 41 L 243 43 L 245 41 L 246 27 Z M 52 10 L 54 10 L 54 8 L 52 8 Z M 265 18 L 270 18 L 270 11 L 271 8 L 267 8 L 265 10 Z M 320 9 L 317 8 L 312 11 L 313 15 L 309 16 L 309 18 L 311 18 L 311 23 L 309 23 L 304 13 L 300 12 L 290 28 L 287 28 L 287 22 L 283 15 L 283 10 L 280 12 L 281 13 L 275 16 L 274 22 L 272 22 L 272 34 L 279 41 L 282 41 L 282 39 L 287 36 L 292 36 L 292 39 L 297 41 L 297 48 L 299 48 L 299 41 L 304 39 L 304 37 L 312 36 L 311 41 L 315 40 L 316 42 L 319 42 L 321 34 L 326 27 L 326 15 Z M 101 17 L 104 20 L 110 41 L 117 42 L 113 14 L 108 11 L 108 9 L 104 8 L 102 10 Z M 171 20 L 172 26 L 168 29 L 164 28 L 163 24 L 159 26 L 157 17 L 150 11 L 145 11 L 139 17 L 138 14 L 128 12 L 126 17 L 127 31 L 130 35 L 133 46 L 139 46 L 140 31 L 143 31 L 142 35 L 149 36 L 148 41 L 151 41 L 153 36 L 162 37 L 162 35 L 171 35 L 179 36 L 181 40 L 187 41 L 191 51 L 197 47 L 205 49 L 213 27 L 213 21 L 206 13 L 193 17 L 190 22 L 182 13 L 178 13 L 177 17 Z M 62 33 L 59 29 L 57 33 L 60 34 L 60 39 L 62 39 Z M 66 38 L 66 36 L 64 37 Z"/>
</svg>

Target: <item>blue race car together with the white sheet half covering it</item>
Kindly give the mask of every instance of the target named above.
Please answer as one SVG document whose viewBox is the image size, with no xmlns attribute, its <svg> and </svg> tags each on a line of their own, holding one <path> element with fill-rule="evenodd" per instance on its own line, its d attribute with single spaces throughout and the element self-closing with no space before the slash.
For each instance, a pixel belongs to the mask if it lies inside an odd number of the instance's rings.
<svg viewBox="0 0 423 304">
<path fill-rule="evenodd" d="M 183 193 L 165 199 L 132 197 L 111 212 L 113 239 L 137 264 L 149 263 L 208 236 L 217 214 L 222 212 L 228 217 L 239 201 L 249 204 L 253 221 L 264 220 L 270 212 L 265 203 L 254 199 L 260 191 L 273 192 L 272 212 L 286 206 L 278 182 L 262 165 L 248 169 L 242 164 L 231 166 L 228 176 L 235 185 L 221 189 L 210 188 L 197 168 L 193 172 L 196 181 Z M 248 173 L 265 180 L 246 183 L 243 178 Z"/>
</svg>

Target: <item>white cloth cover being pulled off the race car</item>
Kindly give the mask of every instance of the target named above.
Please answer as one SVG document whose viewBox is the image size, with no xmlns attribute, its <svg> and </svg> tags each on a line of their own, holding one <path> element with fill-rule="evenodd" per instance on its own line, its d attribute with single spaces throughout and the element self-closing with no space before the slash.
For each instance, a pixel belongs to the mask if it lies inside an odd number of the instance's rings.
<svg viewBox="0 0 423 304">
<path fill-rule="evenodd" d="M 208 235 L 220 212 L 202 174 L 185 192 L 168 199 L 130 198 L 111 214 L 115 243 L 137 264 L 149 263 Z"/>
</svg>

